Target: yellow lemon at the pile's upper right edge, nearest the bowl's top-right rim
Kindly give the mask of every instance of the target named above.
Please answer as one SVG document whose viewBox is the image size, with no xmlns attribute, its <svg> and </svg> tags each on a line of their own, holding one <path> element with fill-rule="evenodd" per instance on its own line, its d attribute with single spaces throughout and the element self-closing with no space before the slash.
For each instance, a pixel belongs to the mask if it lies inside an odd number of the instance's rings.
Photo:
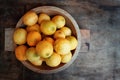
<svg viewBox="0 0 120 80">
<path fill-rule="evenodd" d="M 54 16 L 52 21 L 57 25 L 57 28 L 62 28 L 65 25 L 65 18 L 61 15 Z"/>
</svg>

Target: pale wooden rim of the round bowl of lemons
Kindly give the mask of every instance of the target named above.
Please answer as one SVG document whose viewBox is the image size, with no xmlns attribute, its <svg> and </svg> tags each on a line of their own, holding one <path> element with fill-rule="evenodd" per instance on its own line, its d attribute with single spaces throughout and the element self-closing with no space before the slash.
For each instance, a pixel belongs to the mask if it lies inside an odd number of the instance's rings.
<svg viewBox="0 0 120 80">
<path fill-rule="evenodd" d="M 77 45 L 77 48 L 75 49 L 75 52 L 74 52 L 74 55 L 72 56 L 72 60 L 70 62 L 68 62 L 67 64 L 64 64 L 63 66 L 57 68 L 57 69 L 53 69 L 53 70 L 40 70 L 40 69 L 37 69 L 37 68 L 34 68 L 32 65 L 30 65 L 28 62 L 26 61 L 21 61 L 21 63 L 27 67 L 28 69 L 34 71 L 34 72 L 37 72 L 37 73 L 43 73 L 43 74 L 51 74 L 51 73 L 56 73 L 56 72 L 59 72 L 59 71 L 62 71 L 66 68 L 68 68 L 74 61 L 75 59 L 77 58 L 78 56 L 78 53 L 79 53 L 79 50 L 81 48 L 81 34 L 80 34 L 80 29 L 79 29 L 79 26 L 77 24 L 77 22 L 75 21 L 75 19 L 65 10 L 61 9 L 61 8 L 58 8 L 56 6 L 40 6 L 40 7 L 36 7 L 36 8 L 33 8 L 31 10 L 35 11 L 36 13 L 39 13 L 40 10 L 56 10 L 57 11 L 60 11 L 61 14 L 64 14 L 68 19 L 71 20 L 71 23 L 74 25 L 74 28 L 76 30 L 76 37 L 78 39 L 78 44 Z M 30 10 L 29 10 L 30 11 Z M 22 17 L 19 19 L 19 21 L 17 22 L 16 24 L 16 28 L 17 27 L 20 27 L 20 24 L 22 24 Z"/>
</svg>

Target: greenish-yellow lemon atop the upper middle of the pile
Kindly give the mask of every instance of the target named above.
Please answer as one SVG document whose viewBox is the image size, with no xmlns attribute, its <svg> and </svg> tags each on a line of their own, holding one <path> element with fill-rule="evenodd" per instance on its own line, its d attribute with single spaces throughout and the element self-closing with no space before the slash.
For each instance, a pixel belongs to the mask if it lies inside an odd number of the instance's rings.
<svg viewBox="0 0 120 80">
<path fill-rule="evenodd" d="M 40 30 L 45 35 L 52 35 L 56 31 L 56 25 L 52 21 L 43 21 Z"/>
</svg>

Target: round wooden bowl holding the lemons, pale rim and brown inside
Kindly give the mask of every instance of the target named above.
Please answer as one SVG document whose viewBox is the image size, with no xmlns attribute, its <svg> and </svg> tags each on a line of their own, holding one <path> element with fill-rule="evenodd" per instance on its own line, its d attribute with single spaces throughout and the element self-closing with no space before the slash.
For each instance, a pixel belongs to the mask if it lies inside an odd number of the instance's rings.
<svg viewBox="0 0 120 80">
<path fill-rule="evenodd" d="M 57 66 L 55 68 L 48 67 L 45 63 L 43 63 L 42 66 L 36 67 L 36 66 L 32 65 L 29 61 L 22 61 L 22 64 L 24 64 L 24 66 L 26 66 L 30 70 L 37 72 L 37 73 L 49 74 L 49 73 L 56 73 L 56 72 L 64 70 L 65 68 L 69 67 L 73 63 L 73 61 L 77 58 L 77 55 L 78 55 L 80 47 L 81 47 L 81 34 L 80 34 L 78 24 L 76 23 L 74 18 L 68 12 L 66 12 L 65 10 L 60 9 L 58 7 L 41 6 L 41 7 L 34 8 L 32 10 L 38 14 L 46 13 L 50 16 L 57 15 L 57 14 L 64 16 L 66 19 L 66 25 L 71 28 L 73 35 L 76 36 L 76 38 L 78 40 L 78 46 L 74 51 L 72 51 L 73 56 L 72 56 L 72 59 L 70 62 L 68 62 L 67 64 L 61 63 L 59 66 Z M 24 26 L 24 24 L 23 24 L 22 18 L 21 18 L 18 21 L 16 27 L 22 27 L 22 26 Z"/>
</svg>

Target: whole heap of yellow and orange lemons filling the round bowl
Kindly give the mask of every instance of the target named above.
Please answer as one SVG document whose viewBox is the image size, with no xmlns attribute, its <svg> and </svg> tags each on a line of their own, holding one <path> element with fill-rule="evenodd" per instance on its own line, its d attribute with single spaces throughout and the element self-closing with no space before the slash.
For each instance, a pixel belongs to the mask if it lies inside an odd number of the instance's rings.
<svg viewBox="0 0 120 80">
<path fill-rule="evenodd" d="M 22 22 L 26 27 L 16 28 L 13 34 L 17 44 L 15 56 L 19 61 L 28 60 L 35 66 L 45 62 L 56 67 L 71 60 L 71 51 L 77 47 L 78 41 L 71 29 L 66 27 L 63 16 L 51 17 L 29 11 L 22 17 Z"/>
</svg>

